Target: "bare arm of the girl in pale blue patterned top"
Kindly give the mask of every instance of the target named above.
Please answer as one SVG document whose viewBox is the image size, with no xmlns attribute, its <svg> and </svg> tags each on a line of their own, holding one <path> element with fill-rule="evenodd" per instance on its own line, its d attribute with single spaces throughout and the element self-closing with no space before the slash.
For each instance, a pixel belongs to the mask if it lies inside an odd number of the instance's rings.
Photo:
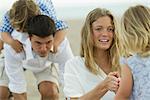
<svg viewBox="0 0 150 100">
<path fill-rule="evenodd" d="M 133 79 L 128 65 L 121 67 L 121 81 L 116 93 L 115 100 L 129 100 L 132 93 Z"/>
</svg>

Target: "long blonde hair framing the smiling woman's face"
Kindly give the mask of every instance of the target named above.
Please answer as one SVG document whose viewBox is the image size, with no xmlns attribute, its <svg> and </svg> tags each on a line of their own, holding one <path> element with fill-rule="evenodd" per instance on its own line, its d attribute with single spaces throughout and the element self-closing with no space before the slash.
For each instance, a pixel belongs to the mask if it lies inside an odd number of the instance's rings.
<svg viewBox="0 0 150 100">
<path fill-rule="evenodd" d="M 94 60 L 94 42 L 92 39 L 92 23 L 95 22 L 98 18 L 103 16 L 109 16 L 112 20 L 112 25 L 114 26 L 114 39 L 112 46 L 109 49 L 109 55 L 111 59 L 112 69 L 116 70 L 119 66 L 119 55 L 117 47 L 117 38 L 116 38 L 116 20 L 114 16 L 110 13 L 109 10 L 96 8 L 92 10 L 86 17 L 85 23 L 81 30 L 81 50 L 80 56 L 85 58 L 85 65 L 90 72 L 98 74 L 98 69 L 95 65 Z"/>
</svg>

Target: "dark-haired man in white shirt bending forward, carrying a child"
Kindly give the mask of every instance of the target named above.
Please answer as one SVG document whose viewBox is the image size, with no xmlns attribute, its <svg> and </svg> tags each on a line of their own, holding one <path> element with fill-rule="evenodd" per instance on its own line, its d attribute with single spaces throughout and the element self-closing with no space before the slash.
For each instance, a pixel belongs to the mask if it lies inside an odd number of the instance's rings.
<svg viewBox="0 0 150 100">
<path fill-rule="evenodd" d="M 9 77 L 9 89 L 13 93 L 15 100 L 27 99 L 25 68 L 31 70 L 37 79 L 42 100 L 58 100 L 58 67 L 54 63 L 58 63 L 61 66 L 68 59 L 68 57 L 65 58 L 61 54 L 64 50 L 62 45 L 64 47 L 66 41 L 63 41 L 60 45 L 60 51 L 52 54 L 50 49 L 56 32 L 54 21 L 48 16 L 37 15 L 29 20 L 27 26 L 28 34 L 20 34 L 17 31 L 13 33 L 13 38 L 23 43 L 24 51 L 16 53 L 10 45 L 4 45 L 5 68 Z M 24 38 L 28 36 L 29 38 Z"/>
</svg>

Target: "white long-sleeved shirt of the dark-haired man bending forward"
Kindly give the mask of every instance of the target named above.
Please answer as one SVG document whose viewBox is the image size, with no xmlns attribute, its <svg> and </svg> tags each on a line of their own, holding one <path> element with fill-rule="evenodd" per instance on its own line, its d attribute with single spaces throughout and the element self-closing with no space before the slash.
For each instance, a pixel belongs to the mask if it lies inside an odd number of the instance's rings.
<svg viewBox="0 0 150 100">
<path fill-rule="evenodd" d="M 16 53 L 10 45 L 4 44 L 6 73 L 9 77 L 9 89 L 12 92 L 26 92 L 26 80 L 23 68 L 38 73 L 49 67 L 51 62 L 53 62 L 58 63 L 59 67 L 63 69 L 65 62 L 72 58 L 72 52 L 69 53 L 70 48 L 67 47 L 67 39 L 60 44 L 56 54 L 49 53 L 47 57 L 39 57 L 32 51 L 31 43 L 26 33 L 13 31 L 13 36 L 13 38 L 23 43 L 25 52 Z"/>
</svg>

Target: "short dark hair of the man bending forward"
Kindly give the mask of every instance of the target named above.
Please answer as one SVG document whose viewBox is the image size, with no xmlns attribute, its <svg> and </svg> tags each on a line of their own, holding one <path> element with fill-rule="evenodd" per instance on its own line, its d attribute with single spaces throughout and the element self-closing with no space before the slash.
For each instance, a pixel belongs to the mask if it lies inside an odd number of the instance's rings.
<svg viewBox="0 0 150 100">
<path fill-rule="evenodd" d="M 30 36 L 47 37 L 55 35 L 56 28 L 54 21 L 46 15 L 37 15 L 28 20 L 27 32 Z"/>
</svg>

